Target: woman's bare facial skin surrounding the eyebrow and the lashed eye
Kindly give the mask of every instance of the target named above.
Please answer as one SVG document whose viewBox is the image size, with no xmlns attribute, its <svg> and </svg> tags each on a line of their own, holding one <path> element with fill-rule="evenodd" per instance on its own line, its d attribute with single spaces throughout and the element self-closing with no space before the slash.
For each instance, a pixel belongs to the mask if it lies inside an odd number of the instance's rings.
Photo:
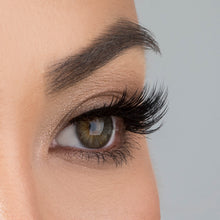
<svg viewBox="0 0 220 220">
<path fill-rule="evenodd" d="M 82 114 L 110 101 L 102 92 L 143 86 L 144 52 L 132 48 L 79 84 L 45 94 L 46 65 L 119 17 L 137 22 L 132 0 L 0 1 L 0 219 L 160 219 L 144 137 L 134 159 L 117 168 L 48 153 L 68 110 L 83 102 Z"/>
</svg>

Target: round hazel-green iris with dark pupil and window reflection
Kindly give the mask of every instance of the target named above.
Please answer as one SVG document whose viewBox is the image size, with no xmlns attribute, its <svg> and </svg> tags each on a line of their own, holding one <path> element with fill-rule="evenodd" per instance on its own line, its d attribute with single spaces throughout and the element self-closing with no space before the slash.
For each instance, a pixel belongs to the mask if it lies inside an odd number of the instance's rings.
<svg viewBox="0 0 220 220">
<path fill-rule="evenodd" d="M 76 134 L 86 148 L 104 147 L 113 132 L 112 117 L 94 117 L 76 122 Z"/>
</svg>

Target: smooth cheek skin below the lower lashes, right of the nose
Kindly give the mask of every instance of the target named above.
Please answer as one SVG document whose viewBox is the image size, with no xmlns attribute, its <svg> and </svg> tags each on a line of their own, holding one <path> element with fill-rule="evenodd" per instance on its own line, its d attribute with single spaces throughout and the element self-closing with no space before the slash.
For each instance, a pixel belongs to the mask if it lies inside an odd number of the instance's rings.
<svg viewBox="0 0 220 220">
<path fill-rule="evenodd" d="M 159 220 L 159 200 L 146 143 L 124 167 L 90 169 L 58 158 L 36 168 L 45 219 Z"/>
</svg>

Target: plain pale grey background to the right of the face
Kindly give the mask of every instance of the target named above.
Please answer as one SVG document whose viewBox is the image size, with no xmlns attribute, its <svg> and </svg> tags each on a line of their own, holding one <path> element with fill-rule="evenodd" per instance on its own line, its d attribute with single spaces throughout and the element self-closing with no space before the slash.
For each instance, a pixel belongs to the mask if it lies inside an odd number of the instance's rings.
<svg viewBox="0 0 220 220">
<path fill-rule="evenodd" d="M 220 219 L 220 1 L 136 0 L 162 56 L 147 81 L 169 88 L 169 112 L 151 135 L 162 220 Z"/>
</svg>

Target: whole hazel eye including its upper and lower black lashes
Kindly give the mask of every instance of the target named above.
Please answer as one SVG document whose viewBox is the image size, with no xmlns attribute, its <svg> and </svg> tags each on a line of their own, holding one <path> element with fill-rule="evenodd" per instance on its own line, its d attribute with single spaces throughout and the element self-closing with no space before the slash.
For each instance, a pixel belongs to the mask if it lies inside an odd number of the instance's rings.
<svg viewBox="0 0 220 220">
<path fill-rule="evenodd" d="M 109 105 L 84 112 L 66 122 L 49 148 L 49 153 L 74 160 L 97 160 L 116 166 L 132 158 L 132 135 L 149 135 L 161 127 L 157 125 L 167 111 L 167 89 L 145 85 L 141 92 L 112 97 Z"/>
</svg>

